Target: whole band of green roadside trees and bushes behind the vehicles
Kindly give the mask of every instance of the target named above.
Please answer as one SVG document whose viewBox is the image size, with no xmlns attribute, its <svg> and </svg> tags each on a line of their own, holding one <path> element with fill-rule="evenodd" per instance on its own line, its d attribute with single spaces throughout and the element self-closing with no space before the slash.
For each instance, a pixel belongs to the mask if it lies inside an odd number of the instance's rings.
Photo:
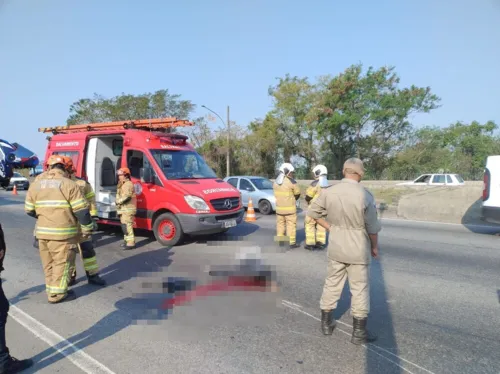
<svg viewBox="0 0 500 374">
<path fill-rule="evenodd" d="M 500 153 L 498 126 L 493 121 L 415 128 L 414 115 L 438 109 L 441 98 L 430 87 L 402 87 L 394 67 L 352 65 L 314 82 L 285 75 L 267 93 L 272 99 L 268 113 L 256 113 L 261 118 L 249 124 L 230 124 L 233 175 L 272 178 L 279 163 L 291 161 L 297 179 L 310 179 L 317 163 L 328 166 L 329 179 L 339 179 L 345 159 L 358 156 L 366 164 L 365 179 L 413 180 L 423 173 L 444 172 L 479 180 L 486 157 Z M 178 131 L 190 136 L 210 166 L 224 177 L 227 127 L 211 114 L 193 118 L 195 108 L 168 90 L 112 98 L 95 94 L 70 106 L 67 123 L 168 116 L 194 120 L 194 128 Z M 209 122 L 217 121 L 219 130 L 211 130 Z M 398 193 L 383 192 L 390 199 Z"/>
</svg>

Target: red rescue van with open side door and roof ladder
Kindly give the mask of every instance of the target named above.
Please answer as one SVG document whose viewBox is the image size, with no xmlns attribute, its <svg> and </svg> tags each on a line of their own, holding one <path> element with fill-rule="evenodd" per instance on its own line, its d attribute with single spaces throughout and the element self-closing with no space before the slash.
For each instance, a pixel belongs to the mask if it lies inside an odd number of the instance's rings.
<svg viewBox="0 0 500 374">
<path fill-rule="evenodd" d="M 217 177 L 187 142 L 172 133 L 194 123 L 177 118 L 39 128 L 51 133 L 45 159 L 71 157 L 76 175 L 94 188 L 99 224 L 120 225 L 117 170 L 128 167 L 137 195 L 135 228 L 154 232 L 165 246 L 187 235 L 218 234 L 241 223 L 240 192 Z"/>
</svg>

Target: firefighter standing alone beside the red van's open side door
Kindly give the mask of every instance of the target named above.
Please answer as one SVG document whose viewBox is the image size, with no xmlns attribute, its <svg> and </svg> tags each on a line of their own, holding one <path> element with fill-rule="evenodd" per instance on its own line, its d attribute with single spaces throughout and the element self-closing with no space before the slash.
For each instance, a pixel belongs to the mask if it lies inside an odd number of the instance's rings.
<svg viewBox="0 0 500 374">
<path fill-rule="evenodd" d="M 120 216 L 125 249 L 135 248 L 134 219 L 137 213 L 137 199 L 135 197 L 134 184 L 130 180 L 129 168 L 118 170 L 118 186 L 116 190 L 116 207 Z"/>
</svg>

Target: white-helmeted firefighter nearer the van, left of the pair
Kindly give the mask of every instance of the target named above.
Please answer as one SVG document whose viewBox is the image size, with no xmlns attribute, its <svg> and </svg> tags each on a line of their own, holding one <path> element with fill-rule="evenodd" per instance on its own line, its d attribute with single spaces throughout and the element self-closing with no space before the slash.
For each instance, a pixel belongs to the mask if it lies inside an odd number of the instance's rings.
<svg viewBox="0 0 500 374">
<path fill-rule="evenodd" d="M 300 187 L 293 179 L 294 171 L 292 164 L 282 164 L 273 184 L 276 198 L 276 240 L 282 243 L 288 238 L 290 248 L 298 247 L 296 201 L 300 198 Z"/>
</svg>

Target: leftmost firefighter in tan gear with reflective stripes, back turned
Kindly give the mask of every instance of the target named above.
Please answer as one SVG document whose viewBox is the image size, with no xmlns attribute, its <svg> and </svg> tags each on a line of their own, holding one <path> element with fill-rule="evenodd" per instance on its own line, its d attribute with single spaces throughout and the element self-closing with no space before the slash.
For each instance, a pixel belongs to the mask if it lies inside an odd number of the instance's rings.
<svg viewBox="0 0 500 374">
<path fill-rule="evenodd" d="M 78 185 L 67 178 L 65 159 L 51 156 L 49 172 L 28 189 L 24 209 L 37 218 L 36 238 L 40 248 L 49 303 L 74 300 L 68 291 L 69 270 L 75 262 L 79 225 L 83 233 L 93 229 L 88 204 Z"/>
</svg>

